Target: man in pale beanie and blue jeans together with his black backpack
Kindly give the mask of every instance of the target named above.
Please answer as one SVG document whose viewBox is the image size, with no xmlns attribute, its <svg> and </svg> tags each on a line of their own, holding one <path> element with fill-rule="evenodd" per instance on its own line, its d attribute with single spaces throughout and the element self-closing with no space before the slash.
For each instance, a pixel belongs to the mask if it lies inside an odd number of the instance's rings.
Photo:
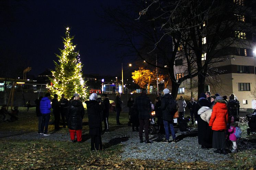
<svg viewBox="0 0 256 170">
<path fill-rule="evenodd" d="M 163 113 L 163 122 L 164 122 L 164 130 L 165 130 L 165 139 L 161 142 L 163 143 L 169 143 L 169 138 L 170 138 L 170 133 L 169 133 L 169 126 L 170 130 L 172 133 L 172 142 L 177 142 L 176 141 L 176 136 L 175 136 L 175 129 L 173 127 L 173 116 L 176 113 L 176 101 L 172 98 L 170 94 L 169 89 L 164 89 L 164 96 L 162 98 L 162 103 L 161 103 L 161 109 Z"/>
</svg>

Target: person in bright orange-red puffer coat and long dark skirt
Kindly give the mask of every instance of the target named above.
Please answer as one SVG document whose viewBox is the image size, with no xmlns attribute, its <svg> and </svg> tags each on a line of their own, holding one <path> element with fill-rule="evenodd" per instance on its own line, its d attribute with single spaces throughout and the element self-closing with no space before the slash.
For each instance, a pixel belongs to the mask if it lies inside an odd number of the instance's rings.
<svg viewBox="0 0 256 170">
<path fill-rule="evenodd" d="M 215 105 L 212 108 L 211 119 L 209 126 L 212 127 L 212 147 L 216 148 L 214 153 L 227 154 L 226 153 L 226 125 L 228 123 L 228 107 L 227 102 L 223 100 L 223 97 L 217 96 Z"/>
</svg>

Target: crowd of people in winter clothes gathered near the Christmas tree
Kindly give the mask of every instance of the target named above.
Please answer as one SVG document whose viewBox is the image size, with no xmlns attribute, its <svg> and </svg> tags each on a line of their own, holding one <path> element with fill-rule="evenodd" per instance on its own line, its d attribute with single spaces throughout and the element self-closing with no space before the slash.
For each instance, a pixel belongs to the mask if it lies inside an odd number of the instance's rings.
<svg viewBox="0 0 256 170">
<path fill-rule="evenodd" d="M 55 130 L 61 128 L 61 119 L 62 128 L 66 128 L 66 125 L 68 125 L 71 141 L 82 142 L 84 106 L 79 94 L 74 93 L 70 101 L 65 98 L 64 94 L 61 95 L 60 100 L 58 100 L 57 94 L 54 94 L 53 99 L 50 96 L 50 93 L 46 93 L 45 97 L 40 96 L 35 101 L 38 134 L 50 135 L 48 124 L 51 109 L 53 109 Z M 107 94 L 102 94 L 101 97 L 92 93 L 85 103 L 88 111 L 91 150 L 101 150 L 101 135 L 109 132 L 109 99 Z M 123 101 L 121 100 L 121 94 L 118 92 L 116 93 L 115 104 L 116 124 L 121 125 L 119 116 Z M 157 118 L 159 133 L 165 134 L 165 138 L 161 142 L 177 142 L 173 126 L 174 115 L 177 112 L 178 119 L 184 119 L 185 108 L 188 107 L 191 124 L 196 123 L 198 126 L 198 143 L 201 148 L 215 148 L 215 153 L 226 154 L 227 145 L 232 143 L 231 152 L 237 152 L 234 132 L 238 127 L 240 105 L 234 94 L 231 94 L 229 100 L 227 100 L 227 96 L 222 97 L 218 93 L 211 96 L 211 93 L 207 91 L 200 94 L 197 102 L 191 97 L 187 104 L 183 96 L 180 96 L 177 101 L 173 99 L 170 90 L 166 88 L 163 90 L 163 95 L 157 95 L 154 104 L 152 104 L 147 95 L 147 90 L 143 89 L 136 100 L 133 100 L 132 97 L 129 98 L 127 107 L 129 108 L 128 126 L 132 125 L 133 132 L 139 132 L 140 143 L 152 143 L 149 140 L 150 122 L 153 118 L 152 111 L 155 112 Z M 3 105 L 0 110 L 0 122 L 18 120 L 18 113 L 18 107 L 14 107 L 11 113 L 8 113 L 7 105 Z M 9 115 L 9 118 L 7 118 L 7 115 Z M 143 133 L 145 140 L 143 139 Z M 170 136 L 172 137 L 171 141 Z"/>
</svg>

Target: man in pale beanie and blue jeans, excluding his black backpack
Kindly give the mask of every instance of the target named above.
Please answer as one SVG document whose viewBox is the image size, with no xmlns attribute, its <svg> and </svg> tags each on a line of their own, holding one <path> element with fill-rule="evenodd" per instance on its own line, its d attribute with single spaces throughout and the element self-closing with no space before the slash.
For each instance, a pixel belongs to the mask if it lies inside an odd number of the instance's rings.
<svg viewBox="0 0 256 170">
<path fill-rule="evenodd" d="M 162 98 L 162 103 L 161 103 L 161 109 L 162 109 L 162 114 L 163 114 L 163 122 L 164 122 L 164 130 L 165 130 L 165 139 L 161 142 L 163 143 L 169 143 L 169 138 L 170 138 L 170 132 L 169 132 L 169 127 L 172 133 L 172 139 L 173 142 L 176 141 L 176 136 L 175 136 L 175 129 L 173 127 L 173 116 L 169 114 L 168 110 L 166 109 L 167 104 L 169 103 L 170 100 L 172 100 L 172 96 L 170 94 L 169 89 L 164 89 L 164 96 Z"/>
</svg>

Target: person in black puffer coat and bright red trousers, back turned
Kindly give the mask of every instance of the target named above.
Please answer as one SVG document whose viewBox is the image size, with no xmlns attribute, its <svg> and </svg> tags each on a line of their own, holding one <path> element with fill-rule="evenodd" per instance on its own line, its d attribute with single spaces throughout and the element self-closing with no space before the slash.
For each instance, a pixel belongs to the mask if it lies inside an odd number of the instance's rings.
<svg viewBox="0 0 256 170">
<path fill-rule="evenodd" d="M 82 142 L 83 116 L 83 103 L 78 96 L 75 96 L 67 110 L 68 128 L 72 142 L 75 142 L 75 135 L 77 135 L 77 141 Z"/>
</svg>

